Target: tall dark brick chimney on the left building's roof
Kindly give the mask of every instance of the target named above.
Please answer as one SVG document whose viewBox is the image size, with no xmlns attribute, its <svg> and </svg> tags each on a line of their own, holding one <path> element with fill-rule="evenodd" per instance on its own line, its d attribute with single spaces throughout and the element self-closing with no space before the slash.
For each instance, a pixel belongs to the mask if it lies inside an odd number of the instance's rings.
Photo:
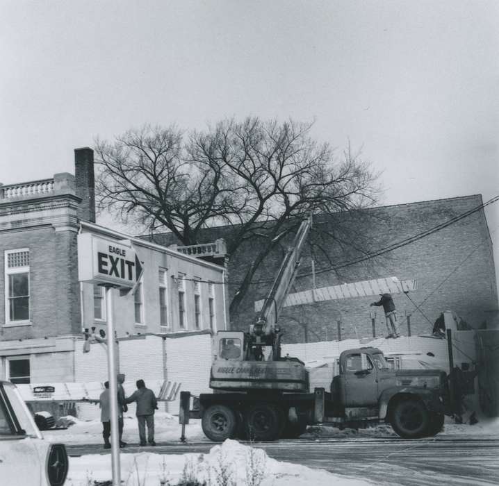
<svg viewBox="0 0 499 486">
<path fill-rule="evenodd" d="M 88 147 L 74 149 L 76 196 L 81 197 L 78 217 L 95 223 L 94 151 Z"/>
</svg>

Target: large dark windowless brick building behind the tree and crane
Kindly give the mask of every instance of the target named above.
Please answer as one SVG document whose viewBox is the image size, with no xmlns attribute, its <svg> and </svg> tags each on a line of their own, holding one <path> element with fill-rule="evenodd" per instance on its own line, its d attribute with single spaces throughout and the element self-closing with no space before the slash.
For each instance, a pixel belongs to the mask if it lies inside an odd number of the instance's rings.
<svg viewBox="0 0 499 486">
<path fill-rule="evenodd" d="M 206 230 L 207 241 L 217 237 L 228 240 L 230 228 Z M 480 195 L 316 216 L 310 238 L 327 253 L 326 258 L 315 251 L 316 288 L 392 276 L 417 280 L 417 290 L 393 296 L 402 335 L 409 333 L 408 325 L 412 335 L 431 333 L 444 310 L 453 310 L 464 319 L 461 328 L 498 327 L 492 242 Z M 154 241 L 172 242 L 170 234 L 155 235 Z M 242 280 L 254 258 L 255 243 L 245 244 L 231 255 L 229 298 L 237 289 L 231 283 Z M 250 287 L 241 312 L 231 315 L 232 328 L 247 329 L 254 302 L 265 297 L 283 254 L 284 246 L 264 261 L 254 276 L 258 283 Z M 311 289 L 311 274 L 311 254 L 305 251 L 293 291 Z M 369 306 L 377 298 L 284 308 L 279 321 L 285 330 L 284 342 L 372 337 L 373 320 L 376 335 L 385 335 L 382 309 Z"/>
</svg>

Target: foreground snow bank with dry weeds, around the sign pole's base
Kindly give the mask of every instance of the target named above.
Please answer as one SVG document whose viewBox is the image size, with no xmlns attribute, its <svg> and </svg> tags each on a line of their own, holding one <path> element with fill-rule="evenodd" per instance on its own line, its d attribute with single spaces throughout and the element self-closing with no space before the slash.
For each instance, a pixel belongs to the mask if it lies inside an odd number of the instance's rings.
<svg viewBox="0 0 499 486">
<path fill-rule="evenodd" d="M 121 454 L 122 481 L 127 486 L 366 486 L 322 469 L 279 462 L 261 449 L 226 440 L 208 454 Z M 67 486 L 87 486 L 111 480 L 111 455 L 70 458 Z"/>
</svg>

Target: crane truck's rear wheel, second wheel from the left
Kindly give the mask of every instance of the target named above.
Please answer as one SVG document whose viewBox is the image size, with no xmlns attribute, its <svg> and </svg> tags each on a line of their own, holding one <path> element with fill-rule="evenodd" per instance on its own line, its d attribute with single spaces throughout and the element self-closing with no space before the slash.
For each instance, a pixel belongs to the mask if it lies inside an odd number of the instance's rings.
<svg viewBox="0 0 499 486">
<path fill-rule="evenodd" d="M 256 403 L 245 412 L 247 437 L 250 440 L 277 440 L 284 426 L 282 413 L 272 403 Z"/>
</svg>

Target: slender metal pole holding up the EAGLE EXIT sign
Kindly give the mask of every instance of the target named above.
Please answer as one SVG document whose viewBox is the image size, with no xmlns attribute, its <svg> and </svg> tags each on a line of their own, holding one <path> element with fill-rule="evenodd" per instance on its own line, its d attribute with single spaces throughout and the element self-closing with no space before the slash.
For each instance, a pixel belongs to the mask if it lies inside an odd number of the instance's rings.
<svg viewBox="0 0 499 486">
<path fill-rule="evenodd" d="M 111 463 L 113 486 L 121 486 L 120 479 L 120 435 L 118 433 L 118 388 L 115 361 L 115 329 L 113 323 L 113 287 L 106 286 L 106 317 L 108 321 L 108 381 L 109 408 L 111 410 Z"/>
</svg>

